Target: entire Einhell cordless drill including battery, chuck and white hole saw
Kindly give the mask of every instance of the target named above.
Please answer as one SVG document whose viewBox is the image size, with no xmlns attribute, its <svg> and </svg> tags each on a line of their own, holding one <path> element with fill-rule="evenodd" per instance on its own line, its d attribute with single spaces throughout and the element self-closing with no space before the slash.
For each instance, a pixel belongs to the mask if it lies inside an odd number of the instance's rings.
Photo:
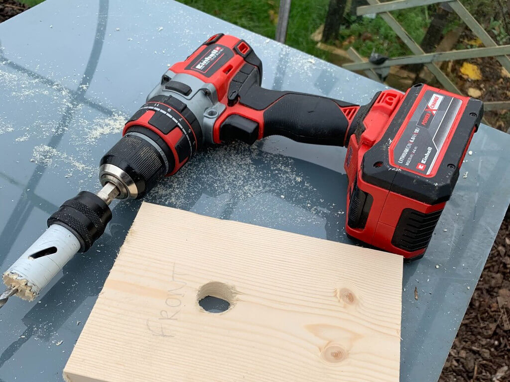
<svg viewBox="0 0 510 382">
<path fill-rule="evenodd" d="M 405 258 L 423 255 L 483 115 L 481 101 L 426 85 L 377 92 L 363 106 L 261 87 L 262 62 L 244 40 L 217 34 L 170 67 L 101 159 L 97 194 L 81 192 L 5 272 L 32 300 L 111 220 L 113 199 L 140 199 L 205 145 L 268 135 L 347 147 L 348 235 Z"/>
</svg>

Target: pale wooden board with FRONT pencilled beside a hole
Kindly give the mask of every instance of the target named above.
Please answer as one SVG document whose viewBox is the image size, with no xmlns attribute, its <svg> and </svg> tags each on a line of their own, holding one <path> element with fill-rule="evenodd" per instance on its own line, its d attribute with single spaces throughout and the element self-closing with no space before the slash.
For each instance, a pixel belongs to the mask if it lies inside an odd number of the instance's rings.
<svg viewBox="0 0 510 382">
<path fill-rule="evenodd" d="M 64 378 L 397 382 L 401 285 L 397 255 L 143 203 Z"/>
</svg>

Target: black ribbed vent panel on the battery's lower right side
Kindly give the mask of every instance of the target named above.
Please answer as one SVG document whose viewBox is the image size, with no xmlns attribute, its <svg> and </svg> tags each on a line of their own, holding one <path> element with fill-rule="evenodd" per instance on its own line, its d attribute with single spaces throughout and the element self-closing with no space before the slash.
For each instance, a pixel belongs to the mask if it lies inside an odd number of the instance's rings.
<svg viewBox="0 0 510 382">
<path fill-rule="evenodd" d="M 391 243 L 405 251 L 426 248 L 443 210 L 422 213 L 412 208 L 402 211 Z"/>
</svg>

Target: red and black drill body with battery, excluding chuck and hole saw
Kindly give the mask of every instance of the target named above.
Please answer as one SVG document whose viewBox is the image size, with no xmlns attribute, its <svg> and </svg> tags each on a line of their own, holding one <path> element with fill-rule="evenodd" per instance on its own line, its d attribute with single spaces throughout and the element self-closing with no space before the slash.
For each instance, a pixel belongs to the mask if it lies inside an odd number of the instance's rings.
<svg viewBox="0 0 510 382">
<path fill-rule="evenodd" d="M 481 101 L 420 84 L 358 106 L 267 90 L 261 79 L 262 62 L 245 41 L 215 35 L 165 72 L 123 133 L 157 142 L 167 154 L 165 175 L 203 145 L 231 140 L 252 144 L 277 134 L 345 146 L 346 233 L 406 258 L 422 256 L 483 115 Z M 135 197 L 149 187 L 142 188 Z"/>
</svg>

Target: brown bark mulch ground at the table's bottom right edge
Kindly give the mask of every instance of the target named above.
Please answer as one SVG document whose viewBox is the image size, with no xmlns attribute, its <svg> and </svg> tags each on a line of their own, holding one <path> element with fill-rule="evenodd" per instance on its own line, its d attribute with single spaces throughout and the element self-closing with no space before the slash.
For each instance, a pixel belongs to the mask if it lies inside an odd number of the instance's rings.
<svg viewBox="0 0 510 382">
<path fill-rule="evenodd" d="M 441 382 L 510 381 L 510 219 L 501 224 Z"/>
</svg>

